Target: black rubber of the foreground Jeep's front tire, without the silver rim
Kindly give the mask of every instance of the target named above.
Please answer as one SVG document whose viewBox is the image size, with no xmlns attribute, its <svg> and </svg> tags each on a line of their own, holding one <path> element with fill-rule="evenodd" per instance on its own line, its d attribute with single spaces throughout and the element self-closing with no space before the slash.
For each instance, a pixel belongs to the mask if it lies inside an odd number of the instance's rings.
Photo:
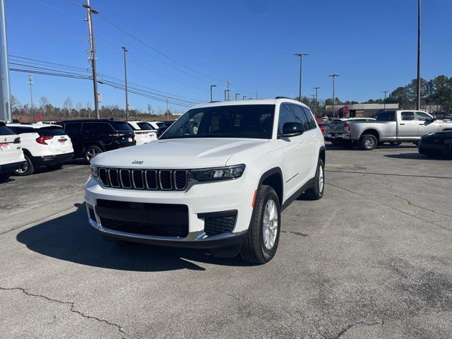
<svg viewBox="0 0 452 339">
<path fill-rule="evenodd" d="M 276 237 L 273 246 L 268 249 L 264 244 L 264 230 L 263 218 L 265 209 L 269 201 L 275 204 L 275 211 L 277 213 Z M 271 203 L 270 203 L 271 204 Z M 273 256 L 275 256 L 278 249 L 278 242 L 280 239 L 281 230 L 281 207 L 280 200 L 275 190 L 271 186 L 262 185 L 259 187 L 254 201 L 253 215 L 251 215 L 251 222 L 249 223 L 249 230 L 246 239 L 240 249 L 239 255 L 244 261 L 249 263 L 256 263 L 261 265 L 268 263 Z"/>
</svg>

